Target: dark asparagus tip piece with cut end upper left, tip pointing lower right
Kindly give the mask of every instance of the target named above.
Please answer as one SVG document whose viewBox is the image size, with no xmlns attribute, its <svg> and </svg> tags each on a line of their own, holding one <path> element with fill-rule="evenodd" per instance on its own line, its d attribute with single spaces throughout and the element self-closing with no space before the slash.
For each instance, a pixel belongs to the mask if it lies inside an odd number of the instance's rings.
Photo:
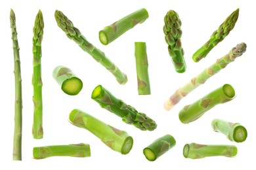
<svg viewBox="0 0 256 170">
<path fill-rule="evenodd" d="M 127 105 L 120 99 L 117 99 L 101 85 L 96 86 L 91 98 L 99 103 L 100 107 L 113 112 L 127 124 L 132 124 L 142 131 L 153 131 L 156 129 L 157 125 L 154 120 L 146 116 L 146 114 L 138 112 L 135 108 Z"/>
</svg>

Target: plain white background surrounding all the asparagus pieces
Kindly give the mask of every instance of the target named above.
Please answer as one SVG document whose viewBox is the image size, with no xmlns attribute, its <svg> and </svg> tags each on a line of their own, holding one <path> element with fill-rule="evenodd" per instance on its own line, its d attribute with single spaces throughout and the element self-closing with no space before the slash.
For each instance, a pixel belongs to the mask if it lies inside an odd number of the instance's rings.
<svg viewBox="0 0 256 170">
<path fill-rule="evenodd" d="M 1 1 L 0 32 L 0 169 L 57 168 L 57 169 L 255 169 L 255 9 L 253 1 Z M 136 25 L 108 46 L 100 44 L 98 31 L 123 16 L 140 8 L 146 8 L 149 18 Z M 225 18 L 240 8 L 240 16 L 230 35 L 220 42 L 205 59 L 199 63 L 192 60 L 192 54 L 221 25 Z M 12 138 L 14 127 L 14 74 L 10 9 L 16 14 L 20 60 L 22 67 L 23 92 L 23 135 L 22 161 L 12 161 Z M 32 137 L 33 86 L 32 86 L 32 37 L 33 24 L 38 10 L 43 12 L 45 29 L 43 37 L 42 79 L 43 79 L 43 139 Z M 89 54 L 83 52 L 74 41 L 70 41 L 57 26 L 54 11 L 64 12 L 81 33 L 96 48 L 104 51 L 116 65 L 127 74 L 129 80 L 119 85 L 114 76 L 106 71 Z M 185 73 L 175 72 L 167 52 L 163 35 L 163 18 L 168 10 L 178 12 L 182 20 L 184 48 L 187 69 Z M 254 38 L 254 39 L 253 39 Z M 144 41 L 147 46 L 149 75 L 152 95 L 137 94 L 137 75 L 135 69 L 134 42 Z M 163 109 L 165 100 L 191 78 L 209 67 L 240 42 L 247 44 L 247 52 L 230 63 L 205 84 L 194 90 L 171 111 Z M 83 90 L 76 96 L 69 96 L 60 90 L 54 81 L 52 71 L 57 65 L 66 65 L 83 80 Z M 217 105 L 190 124 L 179 121 L 179 110 L 193 103 L 203 95 L 223 84 L 231 84 L 236 90 L 236 98 L 223 105 Z M 121 121 L 121 118 L 99 107 L 91 99 L 91 92 L 102 84 L 117 98 L 132 105 L 140 112 L 154 119 L 158 128 L 154 131 L 140 131 Z M 85 129 L 72 126 L 68 115 L 72 109 L 81 109 L 118 129 L 127 131 L 134 139 L 131 152 L 121 155 L 105 146 L 98 138 Z M 211 120 L 222 118 L 239 122 L 247 128 L 248 137 L 244 143 L 228 141 L 221 133 L 211 129 Z M 175 137 L 177 144 L 158 160 L 150 162 L 142 154 L 144 147 L 165 134 Z M 238 147 L 236 158 L 212 157 L 190 160 L 182 156 L 186 143 L 234 144 Z M 91 158 L 55 157 L 33 160 L 33 146 L 55 144 L 89 143 Z"/>
</svg>

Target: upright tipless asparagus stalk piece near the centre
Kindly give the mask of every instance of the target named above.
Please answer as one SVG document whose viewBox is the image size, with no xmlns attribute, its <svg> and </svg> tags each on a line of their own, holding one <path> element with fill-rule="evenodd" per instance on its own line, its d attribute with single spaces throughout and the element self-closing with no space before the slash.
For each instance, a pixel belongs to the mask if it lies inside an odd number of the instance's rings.
<svg viewBox="0 0 256 170">
<path fill-rule="evenodd" d="M 146 42 L 135 42 L 135 61 L 139 95 L 148 95 L 150 94 L 150 79 L 148 76 Z"/>
</svg>

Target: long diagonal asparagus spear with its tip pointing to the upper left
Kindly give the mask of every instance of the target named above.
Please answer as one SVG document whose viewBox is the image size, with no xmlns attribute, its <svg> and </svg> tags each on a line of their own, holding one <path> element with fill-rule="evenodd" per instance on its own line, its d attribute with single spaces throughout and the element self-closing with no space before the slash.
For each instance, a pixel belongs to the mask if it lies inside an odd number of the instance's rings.
<svg viewBox="0 0 256 170">
<path fill-rule="evenodd" d="M 74 27 L 73 23 L 59 10 L 55 11 L 55 19 L 58 27 L 62 29 L 71 40 L 74 40 L 80 48 L 85 52 L 90 54 L 98 63 L 103 65 L 110 73 L 112 73 L 119 84 L 125 84 L 127 82 L 127 76 L 118 69 L 110 59 L 108 59 L 104 52 L 97 49 L 93 44 L 91 44 L 77 29 Z"/>
</svg>

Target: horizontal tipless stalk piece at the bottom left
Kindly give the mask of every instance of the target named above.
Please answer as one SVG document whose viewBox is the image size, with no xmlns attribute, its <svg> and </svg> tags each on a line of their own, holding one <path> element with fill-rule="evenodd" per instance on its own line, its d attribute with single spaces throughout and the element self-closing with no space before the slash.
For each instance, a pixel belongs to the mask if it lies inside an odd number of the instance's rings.
<svg viewBox="0 0 256 170">
<path fill-rule="evenodd" d="M 72 156 L 72 157 L 90 157 L 91 150 L 89 144 L 68 144 L 68 145 L 53 145 L 39 146 L 33 148 L 33 158 L 41 160 L 53 156 Z"/>
</svg>

